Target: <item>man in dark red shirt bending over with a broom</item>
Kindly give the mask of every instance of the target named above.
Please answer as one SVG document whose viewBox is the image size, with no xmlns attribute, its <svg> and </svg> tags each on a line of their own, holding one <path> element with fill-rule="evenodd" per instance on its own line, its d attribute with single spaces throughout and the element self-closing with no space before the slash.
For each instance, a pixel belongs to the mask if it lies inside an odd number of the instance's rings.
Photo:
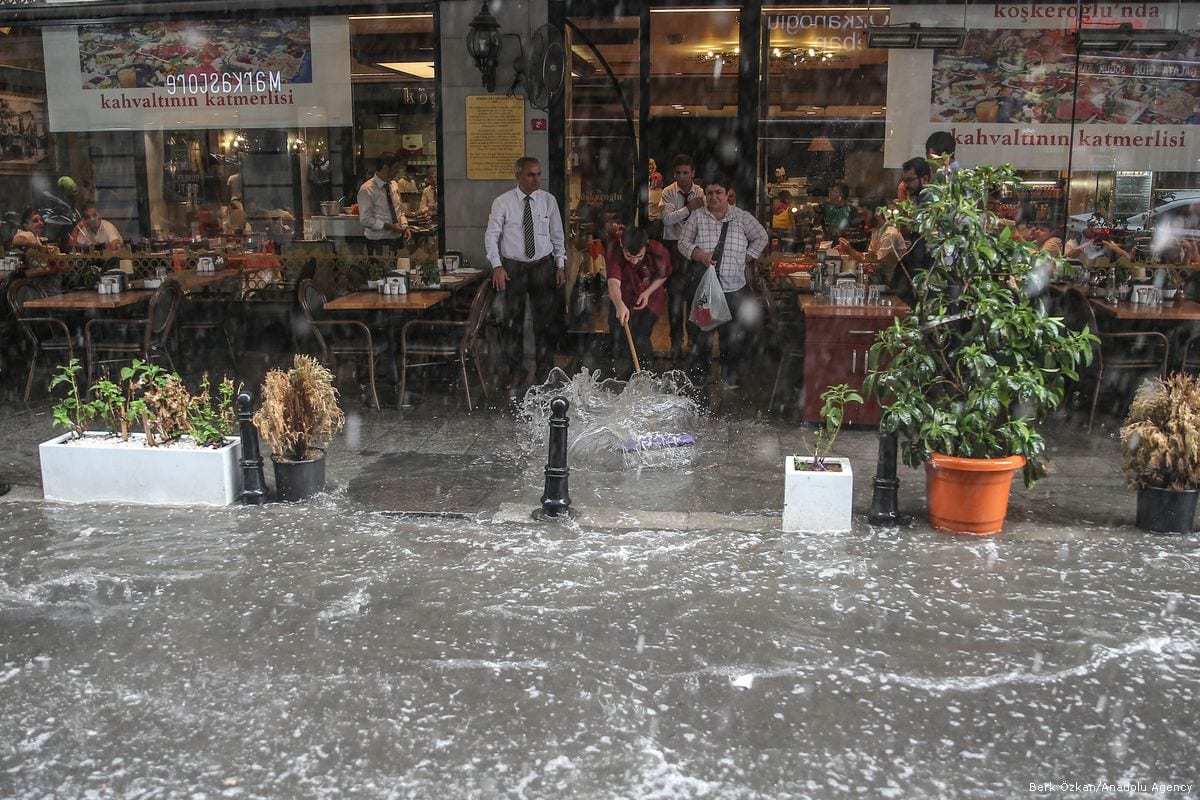
<svg viewBox="0 0 1200 800">
<path fill-rule="evenodd" d="M 662 285 L 671 275 L 671 257 L 666 248 L 650 241 L 641 228 L 628 227 L 620 243 L 613 242 L 605 257 L 608 278 L 608 330 L 613 336 L 613 362 L 629 359 L 629 369 L 618 367 L 618 377 L 628 379 L 632 373 L 632 357 L 624 331 L 625 325 L 634 338 L 634 349 L 642 369 L 648 369 L 654 359 L 650 333 L 666 307 Z"/>
</svg>

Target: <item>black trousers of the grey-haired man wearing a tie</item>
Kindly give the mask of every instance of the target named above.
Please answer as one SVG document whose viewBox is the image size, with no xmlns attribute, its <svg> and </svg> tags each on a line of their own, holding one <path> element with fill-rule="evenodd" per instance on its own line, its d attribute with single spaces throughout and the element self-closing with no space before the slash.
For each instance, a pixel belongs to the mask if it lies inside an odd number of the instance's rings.
<svg viewBox="0 0 1200 800">
<path fill-rule="evenodd" d="M 496 309 L 500 318 L 500 347 L 509 374 L 522 371 L 524 362 L 524 314 L 528 297 L 533 311 L 535 377 L 545 379 L 554 366 L 558 338 L 563 332 L 562 290 L 554 285 L 553 257 L 540 261 L 500 261 L 508 272 L 504 291 L 496 295 Z"/>
</svg>

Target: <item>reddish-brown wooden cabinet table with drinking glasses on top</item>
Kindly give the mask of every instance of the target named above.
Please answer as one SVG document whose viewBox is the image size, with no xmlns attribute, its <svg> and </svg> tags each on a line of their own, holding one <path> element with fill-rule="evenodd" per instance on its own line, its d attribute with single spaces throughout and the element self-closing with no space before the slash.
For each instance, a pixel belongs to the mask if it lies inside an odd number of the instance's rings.
<svg viewBox="0 0 1200 800">
<path fill-rule="evenodd" d="M 875 336 L 895 317 L 908 313 L 908 306 L 886 296 L 890 306 L 835 306 L 824 295 L 797 295 L 804 312 L 804 420 L 821 421 L 821 393 L 829 386 L 847 384 L 862 392 L 866 361 Z M 882 410 L 870 397 L 860 405 L 846 408 L 846 421 L 854 425 L 878 425 Z"/>
</svg>

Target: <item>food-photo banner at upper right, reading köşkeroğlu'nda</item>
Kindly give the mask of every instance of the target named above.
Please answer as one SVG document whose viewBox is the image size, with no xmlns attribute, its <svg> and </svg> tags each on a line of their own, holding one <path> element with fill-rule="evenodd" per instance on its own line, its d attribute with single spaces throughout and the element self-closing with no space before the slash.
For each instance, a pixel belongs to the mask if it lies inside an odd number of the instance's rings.
<svg viewBox="0 0 1200 800">
<path fill-rule="evenodd" d="M 1069 155 L 1075 170 L 1195 169 L 1200 40 L 1162 53 L 1088 53 L 1078 72 L 1075 52 L 1080 25 L 1171 31 L 1195 16 L 1195 4 L 989 4 L 954 11 L 893 8 L 894 23 L 965 22 L 968 32 L 959 50 L 890 52 L 886 166 L 924 155 L 930 133 L 949 131 L 964 166 L 1061 170 Z"/>
</svg>

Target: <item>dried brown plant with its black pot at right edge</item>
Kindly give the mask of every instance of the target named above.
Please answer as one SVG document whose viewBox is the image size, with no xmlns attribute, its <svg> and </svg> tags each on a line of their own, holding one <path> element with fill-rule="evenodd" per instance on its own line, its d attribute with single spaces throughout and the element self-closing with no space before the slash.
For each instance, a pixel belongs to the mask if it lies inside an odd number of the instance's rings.
<svg viewBox="0 0 1200 800">
<path fill-rule="evenodd" d="M 1200 497 L 1200 378 L 1141 385 L 1121 427 L 1121 468 L 1138 491 L 1138 527 L 1189 534 Z"/>
</svg>

